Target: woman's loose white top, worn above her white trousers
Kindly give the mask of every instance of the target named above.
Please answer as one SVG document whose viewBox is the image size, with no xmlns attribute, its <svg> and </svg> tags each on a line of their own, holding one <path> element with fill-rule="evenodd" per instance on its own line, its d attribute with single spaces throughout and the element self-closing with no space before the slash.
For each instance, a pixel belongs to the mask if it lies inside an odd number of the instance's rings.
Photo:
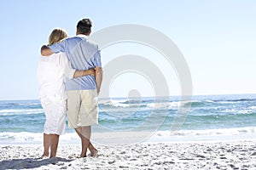
<svg viewBox="0 0 256 170">
<path fill-rule="evenodd" d="M 65 77 L 73 78 L 75 71 L 64 53 L 40 56 L 38 62 L 39 98 L 67 99 Z"/>
</svg>

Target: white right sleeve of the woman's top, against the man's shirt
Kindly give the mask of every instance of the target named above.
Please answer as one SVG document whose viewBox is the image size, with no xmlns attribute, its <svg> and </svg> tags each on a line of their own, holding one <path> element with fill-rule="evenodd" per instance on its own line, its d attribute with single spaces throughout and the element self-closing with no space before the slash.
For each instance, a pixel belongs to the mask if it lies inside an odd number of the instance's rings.
<svg viewBox="0 0 256 170">
<path fill-rule="evenodd" d="M 67 59 L 66 54 L 64 53 L 61 54 L 60 65 L 64 71 L 64 76 L 69 79 L 72 79 L 76 70 L 72 68 L 69 60 Z"/>
</svg>

